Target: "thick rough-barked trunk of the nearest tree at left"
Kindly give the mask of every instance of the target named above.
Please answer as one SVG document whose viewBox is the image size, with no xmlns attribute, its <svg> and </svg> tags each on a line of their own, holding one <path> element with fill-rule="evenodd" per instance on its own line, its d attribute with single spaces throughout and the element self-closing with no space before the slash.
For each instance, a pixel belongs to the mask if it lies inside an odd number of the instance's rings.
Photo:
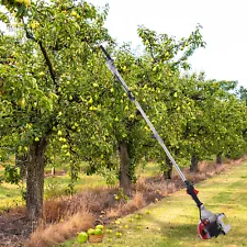
<svg viewBox="0 0 247 247">
<path fill-rule="evenodd" d="M 26 207 L 31 221 L 37 221 L 43 214 L 44 167 L 46 137 L 33 143 L 29 151 L 26 178 Z"/>
</svg>

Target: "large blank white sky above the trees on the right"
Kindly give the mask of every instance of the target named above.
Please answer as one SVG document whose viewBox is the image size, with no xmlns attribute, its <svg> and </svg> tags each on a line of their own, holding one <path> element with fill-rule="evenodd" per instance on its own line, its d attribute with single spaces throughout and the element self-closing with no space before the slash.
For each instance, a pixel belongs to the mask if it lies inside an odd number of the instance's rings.
<svg viewBox="0 0 247 247">
<path fill-rule="evenodd" d="M 117 43 L 141 45 L 138 25 L 180 38 L 200 23 L 205 48 L 190 59 L 193 71 L 207 79 L 237 80 L 247 88 L 246 0 L 88 0 L 97 7 L 109 3 L 104 26 Z"/>
</svg>

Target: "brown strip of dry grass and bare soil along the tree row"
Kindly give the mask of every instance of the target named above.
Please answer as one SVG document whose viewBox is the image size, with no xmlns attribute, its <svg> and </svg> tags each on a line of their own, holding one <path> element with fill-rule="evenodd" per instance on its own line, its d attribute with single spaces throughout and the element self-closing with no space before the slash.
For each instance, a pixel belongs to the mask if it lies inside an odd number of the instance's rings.
<svg viewBox="0 0 247 247">
<path fill-rule="evenodd" d="M 197 183 L 237 166 L 246 159 L 247 157 L 244 157 L 236 161 L 227 161 L 224 165 L 202 162 L 199 172 L 191 173 L 188 168 L 184 168 L 183 172 L 189 181 Z M 124 198 L 115 200 L 119 188 L 91 189 L 74 197 L 52 199 L 44 203 L 43 224 L 36 232 L 33 231 L 34 227 L 27 221 L 25 210 L 18 207 L 9 213 L 0 214 L 0 246 L 36 246 L 36 243 L 40 243 L 38 247 L 54 246 L 55 243 L 58 244 L 75 236 L 80 227 L 83 228 L 81 225 L 82 216 L 79 221 L 80 224 L 75 221 L 77 214 L 87 212 L 87 225 L 93 224 L 96 218 L 101 218 L 104 224 L 108 224 L 182 188 L 184 188 L 183 182 L 175 173 L 171 180 L 165 180 L 161 176 L 141 178 L 133 186 L 128 200 Z M 56 235 L 53 234 L 54 229 L 56 229 Z M 59 229 L 63 231 L 58 236 Z M 31 240 L 26 243 L 26 239 Z"/>
</svg>

